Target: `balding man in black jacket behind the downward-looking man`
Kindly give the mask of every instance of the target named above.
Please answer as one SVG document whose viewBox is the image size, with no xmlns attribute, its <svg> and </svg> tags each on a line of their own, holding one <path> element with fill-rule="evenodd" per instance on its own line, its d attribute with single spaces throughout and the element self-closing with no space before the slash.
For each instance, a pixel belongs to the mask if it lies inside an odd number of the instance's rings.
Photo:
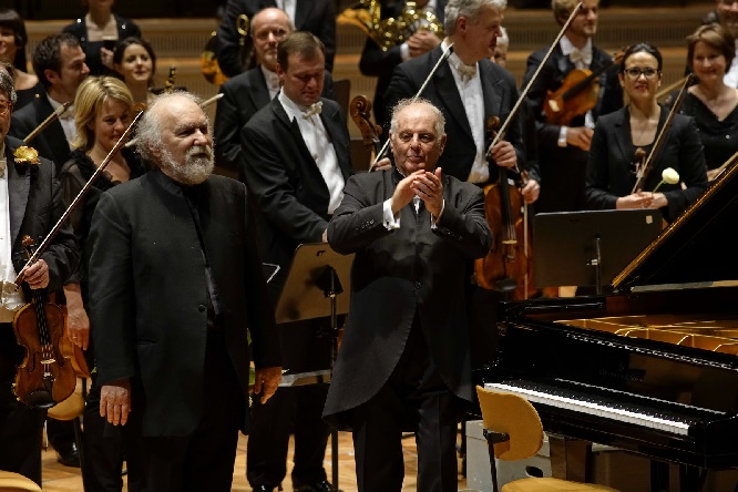
<svg viewBox="0 0 738 492">
<path fill-rule="evenodd" d="M 217 103 L 213 136 L 218 166 L 238 171 L 240 129 L 279 92 L 277 44 L 294 30 L 285 11 L 275 7 L 267 7 L 252 18 L 250 33 L 257 66 L 221 85 L 223 98 Z M 322 96 L 334 99 L 334 82 L 327 70 Z"/>
</svg>

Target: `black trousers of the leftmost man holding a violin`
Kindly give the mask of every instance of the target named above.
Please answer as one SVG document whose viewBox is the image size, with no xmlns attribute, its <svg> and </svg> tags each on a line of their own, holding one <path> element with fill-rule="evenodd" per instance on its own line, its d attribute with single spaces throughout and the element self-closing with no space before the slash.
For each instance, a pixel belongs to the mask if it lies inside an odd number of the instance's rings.
<svg viewBox="0 0 738 492">
<path fill-rule="evenodd" d="M 41 485 L 41 440 L 47 412 L 16 399 L 12 383 L 22 357 L 12 325 L 0 324 L 0 470 L 20 473 Z"/>
</svg>

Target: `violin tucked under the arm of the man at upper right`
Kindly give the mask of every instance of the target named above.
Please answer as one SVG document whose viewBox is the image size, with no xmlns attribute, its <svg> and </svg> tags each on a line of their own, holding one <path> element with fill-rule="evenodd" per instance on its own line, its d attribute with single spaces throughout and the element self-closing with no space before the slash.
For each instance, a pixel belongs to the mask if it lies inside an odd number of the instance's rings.
<svg viewBox="0 0 738 492">
<path fill-rule="evenodd" d="M 587 69 L 572 70 L 564 78 L 561 88 L 546 93 L 543 103 L 546 121 L 555 125 L 568 125 L 576 116 L 594 109 L 599 99 L 599 75 L 619 63 L 623 54 L 621 51 L 594 72 Z"/>
</svg>

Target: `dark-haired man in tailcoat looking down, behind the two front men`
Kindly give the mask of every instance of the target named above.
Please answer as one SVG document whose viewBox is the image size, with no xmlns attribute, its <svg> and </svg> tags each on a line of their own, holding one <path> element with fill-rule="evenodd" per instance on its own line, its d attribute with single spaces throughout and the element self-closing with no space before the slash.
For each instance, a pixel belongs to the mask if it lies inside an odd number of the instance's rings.
<svg viewBox="0 0 738 492">
<path fill-rule="evenodd" d="M 256 204 L 259 253 L 280 267 L 268 285 L 275 305 L 295 248 L 326 240 L 328 221 L 351 173 L 346 120 L 338 103 L 320 96 L 326 73 L 320 40 L 293 32 L 279 43 L 276 69 L 281 90 L 240 133 L 240 171 Z M 331 340 L 322 335 L 329 326 L 328 318 L 279 325 L 283 365 L 290 373 L 330 367 Z M 322 385 L 286 387 L 265 406 L 254 402 L 246 452 L 254 490 L 271 491 L 285 478 L 293 428 L 294 490 L 334 490 L 324 469 L 330 433 L 320 418 L 326 391 Z"/>
</svg>

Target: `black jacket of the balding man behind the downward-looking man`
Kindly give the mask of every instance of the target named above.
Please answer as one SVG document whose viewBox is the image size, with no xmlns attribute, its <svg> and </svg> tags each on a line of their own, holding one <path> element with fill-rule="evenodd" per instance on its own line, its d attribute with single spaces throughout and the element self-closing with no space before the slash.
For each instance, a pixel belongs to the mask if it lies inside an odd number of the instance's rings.
<svg viewBox="0 0 738 492">
<path fill-rule="evenodd" d="M 218 166 L 239 172 L 240 129 L 269 103 L 269 89 L 260 66 L 248 70 L 221 85 L 223 98 L 215 112 L 215 158 Z M 334 80 L 326 70 L 322 96 L 334 99 Z M 240 176 L 243 181 L 243 176 Z"/>
</svg>

